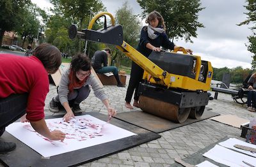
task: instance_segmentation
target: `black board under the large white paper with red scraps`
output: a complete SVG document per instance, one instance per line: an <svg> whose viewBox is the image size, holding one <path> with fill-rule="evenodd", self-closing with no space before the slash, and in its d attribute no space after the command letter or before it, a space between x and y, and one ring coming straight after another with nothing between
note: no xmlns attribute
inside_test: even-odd
<svg viewBox="0 0 256 167"><path fill-rule="evenodd" d="M101 113L91 112L86 114L104 121L107 119L107 116ZM51 116L48 117L48 119L56 117L63 117L63 115L55 117ZM4 166L77 166L161 137L159 134L152 133L151 131L147 131L146 129L142 129L141 127L134 126L115 118L111 119L111 124L138 135L67 152L58 156L44 158L35 152L35 150L30 149L30 147L17 140L17 138L14 138L11 134L5 132L3 136L1 136L1 140L6 142L15 142L17 148L8 154L0 154L0 162Z"/></svg>

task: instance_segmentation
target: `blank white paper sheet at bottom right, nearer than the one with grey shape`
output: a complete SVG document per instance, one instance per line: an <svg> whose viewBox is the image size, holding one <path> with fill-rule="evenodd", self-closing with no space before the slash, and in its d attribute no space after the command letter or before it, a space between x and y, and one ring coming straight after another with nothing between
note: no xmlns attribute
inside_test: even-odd
<svg viewBox="0 0 256 167"><path fill-rule="evenodd" d="M248 167L243 163L243 161L256 166L255 157L235 152L234 150L227 149L220 145L215 145L211 150L205 152L203 156L208 157L209 159L212 159L218 163L232 167Z"/></svg>

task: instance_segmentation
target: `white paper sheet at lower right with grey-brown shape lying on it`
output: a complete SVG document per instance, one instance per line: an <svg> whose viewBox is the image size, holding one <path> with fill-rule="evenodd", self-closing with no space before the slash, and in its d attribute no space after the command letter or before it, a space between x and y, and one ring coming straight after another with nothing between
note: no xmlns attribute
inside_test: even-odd
<svg viewBox="0 0 256 167"><path fill-rule="evenodd" d="M221 145L223 147L226 147L228 149L237 150L237 151L242 152L244 154L247 154L249 156L256 157L256 153L252 153L252 152L247 151L247 150L237 149L236 147L234 147L234 145L243 145L243 146L252 147L252 148L256 149L256 145L253 145L251 143L243 142L241 140L238 140L237 138L229 138L228 140L226 140L224 142L220 142L219 145ZM256 159L255 159L255 161L256 161Z"/></svg>

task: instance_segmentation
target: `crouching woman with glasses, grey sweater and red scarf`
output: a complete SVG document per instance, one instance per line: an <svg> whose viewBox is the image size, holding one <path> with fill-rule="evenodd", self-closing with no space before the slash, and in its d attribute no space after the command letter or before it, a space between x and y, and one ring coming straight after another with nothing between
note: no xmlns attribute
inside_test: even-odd
<svg viewBox="0 0 256 167"><path fill-rule="evenodd" d="M70 69L61 76L58 95L52 98L49 104L51 112L59 112L58 107L62 105L67 112L64 115L64 120L72 119L73 112L81 110L79 104L90 94L89 85L91 85L95 96L108 109L109 117L116 115L116 110L109 105L108 97L99 82L91 74L91 68L91 61L86 55L78 54L72 59Z"/></svg>

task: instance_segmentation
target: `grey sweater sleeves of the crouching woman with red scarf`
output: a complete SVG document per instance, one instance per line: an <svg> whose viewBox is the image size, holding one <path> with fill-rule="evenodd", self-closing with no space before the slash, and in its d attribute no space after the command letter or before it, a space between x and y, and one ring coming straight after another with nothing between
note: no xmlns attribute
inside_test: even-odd
<svg viewBox="0 0 256 167"><path fill-rule="evenodd" d="M59 98L60 103L63 105L64 102L68 102L68 83L69 83L69 75L70 70L68 69L63 73L61 76L60 84L59 84ZM103 89L100 87L99 82L96 80L95 76L91 74L89 78L86 80L83 86L86 85L92 85L93 92L97 98L99 98L101 101L104 101L104 99L108 99L107 95L103 91ZM80 87L76 87L74 89L79 89Z"/></svg>

